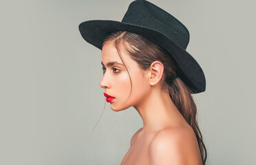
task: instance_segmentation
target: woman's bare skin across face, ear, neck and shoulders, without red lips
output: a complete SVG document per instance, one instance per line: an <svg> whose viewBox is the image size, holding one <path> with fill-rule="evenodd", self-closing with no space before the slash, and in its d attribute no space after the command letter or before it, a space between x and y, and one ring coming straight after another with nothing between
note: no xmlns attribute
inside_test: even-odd
<svg viewBox="0 0 256 165"><path fill-rule="evenodd" d="M123 65L107 67L111 61L123 64L112 41L105 43L102 50L105 74L100 87L115 97L110 102L113 111L133 106L143 120L143 127L131 138L131 147L121 165L202 164L193 129L175 107L168 91L160 90L162 63L154 61L144 71L129 54L121 52L121 55L131 75L132 90Z"/></svg>

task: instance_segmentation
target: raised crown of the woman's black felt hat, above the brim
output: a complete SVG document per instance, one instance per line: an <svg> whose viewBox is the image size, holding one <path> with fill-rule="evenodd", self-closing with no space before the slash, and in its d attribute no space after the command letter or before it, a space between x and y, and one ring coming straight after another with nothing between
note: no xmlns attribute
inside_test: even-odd
<svg viewBox="0 0 256 165"><path fill-rule="evenodd" d="M149 1L133 1L122 22L157 30L184 50L189 44L189 30L178 19Z"/></svg>

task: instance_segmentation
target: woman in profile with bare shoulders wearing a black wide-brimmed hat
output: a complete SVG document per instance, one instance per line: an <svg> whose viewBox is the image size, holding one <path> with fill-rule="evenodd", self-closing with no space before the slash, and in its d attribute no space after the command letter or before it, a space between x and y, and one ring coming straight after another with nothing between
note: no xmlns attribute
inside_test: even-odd
<svg viewBox="0 0 256 165"><path fill-rule="evenodd" d="M204 72L186 52L189 31L148 1L133 1L118 21L85 21L83 39L102 50L100 87L114 111L134 107L143 127L121 164L205 164L206 148L191 94Z"/></svg>

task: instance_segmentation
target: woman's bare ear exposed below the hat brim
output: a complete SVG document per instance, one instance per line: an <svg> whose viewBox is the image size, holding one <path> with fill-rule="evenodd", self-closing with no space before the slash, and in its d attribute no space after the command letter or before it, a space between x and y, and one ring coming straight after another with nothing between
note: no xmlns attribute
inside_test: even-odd
<svg viewBox="0 0 256 165"><path fill-rule="evenodd" d="M164 65L162 65L160 61L154 61L153 63L151 63L148 69L149 84L151 86L157 85L162 78L163 72L164 72Z"/></svg>

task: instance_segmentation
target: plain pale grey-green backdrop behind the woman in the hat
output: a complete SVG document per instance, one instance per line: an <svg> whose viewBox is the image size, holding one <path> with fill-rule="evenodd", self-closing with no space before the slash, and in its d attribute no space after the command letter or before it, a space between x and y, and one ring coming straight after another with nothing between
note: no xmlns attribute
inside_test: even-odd
<svg viewBox="0 0 256 165"><path fill-rule="evenodd" d="M194 98L208 164L255 164L255 3L151 2L186 25L204 69L206 91ZM78 24L121 21L129 3L1 1L0 164L120 164L142 120L109 103L100 118L101 52Z"/></svg>

